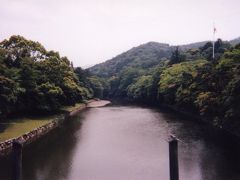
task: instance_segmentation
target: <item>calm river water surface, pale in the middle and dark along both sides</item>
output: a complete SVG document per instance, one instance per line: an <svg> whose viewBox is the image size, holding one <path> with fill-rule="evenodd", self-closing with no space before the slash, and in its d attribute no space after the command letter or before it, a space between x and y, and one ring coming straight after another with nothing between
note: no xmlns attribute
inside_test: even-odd
<svg viewBox="0 0 240 180"><path fill-rule="evenodd" d="M168 142L179 144L180 180L239 180L229 137L169 112L136 106L91 108L24 148L23 180L169 180ZM0 159L11 179L11 158Z"/></svg>

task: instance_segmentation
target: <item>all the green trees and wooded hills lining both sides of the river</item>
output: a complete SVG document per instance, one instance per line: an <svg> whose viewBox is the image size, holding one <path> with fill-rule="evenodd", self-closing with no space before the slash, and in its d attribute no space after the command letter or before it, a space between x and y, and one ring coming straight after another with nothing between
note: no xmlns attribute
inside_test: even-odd
<svg viewBox="0 0 240 180"><path fill-rule="evenodd" d="M0 43L0 115L49 112L93 97L167 105L240 135L240 39L150 42L87 70L40 43Z"/></svg>

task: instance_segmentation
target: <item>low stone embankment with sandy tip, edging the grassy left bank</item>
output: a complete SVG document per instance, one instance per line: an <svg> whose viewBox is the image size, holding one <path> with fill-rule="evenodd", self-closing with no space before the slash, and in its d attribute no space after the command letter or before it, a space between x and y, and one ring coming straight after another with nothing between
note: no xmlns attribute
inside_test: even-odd
<svg viewBox="0 0 240 180"><path fill-rule="evenodd" d="M69 119L72 116L75 116L77 113L85 109L86 107L92 107L91 104L97 103L99 106L104 106L106 104L109 104L106 101L101 102L101 100L91 100L88 101L86 104L82 104L79 107L75 108L74 110L70 112L66 112L63 115L60 115L58 118L53 119L50 123L41 126L39 128L33 129L30 132L27 132L17 138L9 139L4 142L0 142L0 156L7 155L8 153L11 152L12 150L12 143L13 141L19 141L23 145L29 144L35 140L37 140L39 137L47 134L49 131L55 129L58 127L60 124L62 124L65 120Z"/></svg>

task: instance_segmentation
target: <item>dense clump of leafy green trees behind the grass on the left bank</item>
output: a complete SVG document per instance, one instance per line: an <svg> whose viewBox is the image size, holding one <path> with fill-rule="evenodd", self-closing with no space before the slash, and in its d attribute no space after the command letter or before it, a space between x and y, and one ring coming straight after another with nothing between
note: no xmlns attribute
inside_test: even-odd
<svg viewBox="0 0 240 180"><path fill-rule="evenodd" d="M0 43L0 117L57 110L93 93L58 52L21 36Z"/></svg>

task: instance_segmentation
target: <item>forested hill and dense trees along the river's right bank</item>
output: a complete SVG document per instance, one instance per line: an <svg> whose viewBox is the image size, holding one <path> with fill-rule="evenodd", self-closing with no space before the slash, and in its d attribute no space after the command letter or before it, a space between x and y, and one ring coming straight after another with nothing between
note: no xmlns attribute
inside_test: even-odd
<svg viewBox="0 0 240 180"><path fill-rule="evenodd" d="M197 45L168 47L168 53L158 51L158 56L147 51L143 58L141 50L151 49L146 44L90 71L105 77L110 98L169 106L200 115L218 127L239 130L240 45L218 39L214 59L211 42ZM130 60L132 56L135 60ZM151 65L145 66L145 60Z"/></svg>

